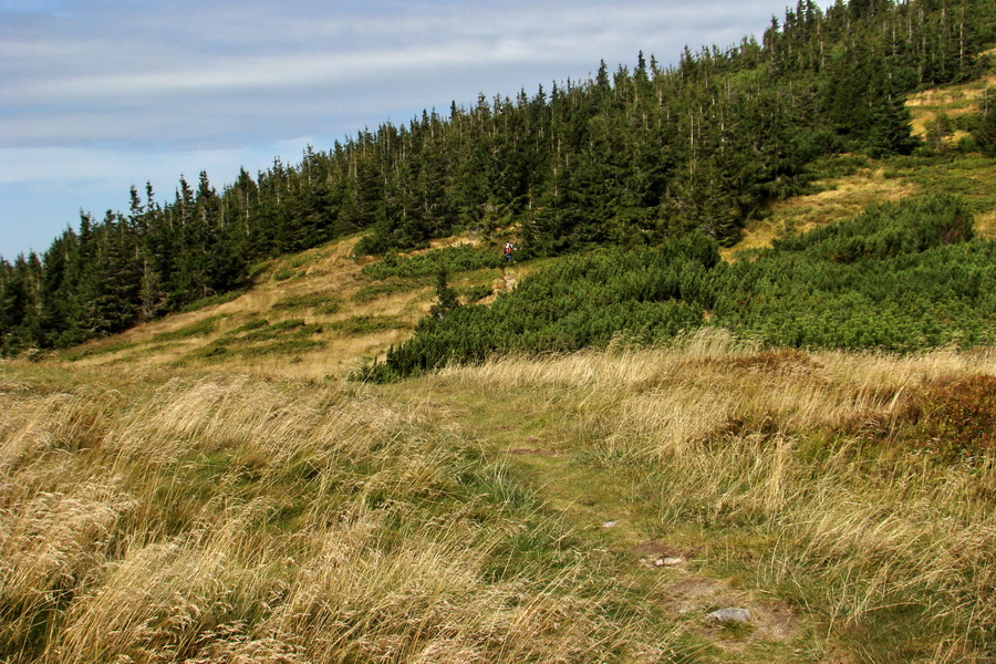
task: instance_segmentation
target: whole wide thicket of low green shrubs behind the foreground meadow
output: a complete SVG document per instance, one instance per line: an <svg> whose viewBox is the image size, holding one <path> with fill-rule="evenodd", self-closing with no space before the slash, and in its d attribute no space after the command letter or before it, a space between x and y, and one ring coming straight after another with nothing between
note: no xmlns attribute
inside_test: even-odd
<svg viewBox="0 0 996 664"><path fill-rule="evenodd" d="M798 349L996 343L996 242L973 240L972 225L961 200L927 196L878 206L733 264L719 262L716 243L701 235L655 249L568 256L489 307L423 319L411 340L356 377L603 347L621 334L656 343L704 324Z"/></svg>

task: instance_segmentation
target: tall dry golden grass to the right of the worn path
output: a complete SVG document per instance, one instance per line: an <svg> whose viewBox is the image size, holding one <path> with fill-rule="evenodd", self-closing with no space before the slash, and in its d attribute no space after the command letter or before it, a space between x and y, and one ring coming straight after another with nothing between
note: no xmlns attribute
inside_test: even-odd
<svg viewBox="0 0 996 664"><path fill-rule="evenodd" d="M996 355L760 352L699 334L436 380L532 391L593 478L632 483L649 536L791 602L855 661L941 663L996 647L996 456L935 454L916 406L973 375L996 376Z"/></svg>

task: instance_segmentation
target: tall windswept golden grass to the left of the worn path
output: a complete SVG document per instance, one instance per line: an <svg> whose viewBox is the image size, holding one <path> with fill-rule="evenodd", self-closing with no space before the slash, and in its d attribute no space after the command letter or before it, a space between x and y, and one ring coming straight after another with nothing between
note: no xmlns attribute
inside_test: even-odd
<svg viewBox="0 0 996 664"><path fill-rule="evenodd" d="M0 371L4 662L592 662L666 644L600 553L425 408L247 376Z"/></svg>

